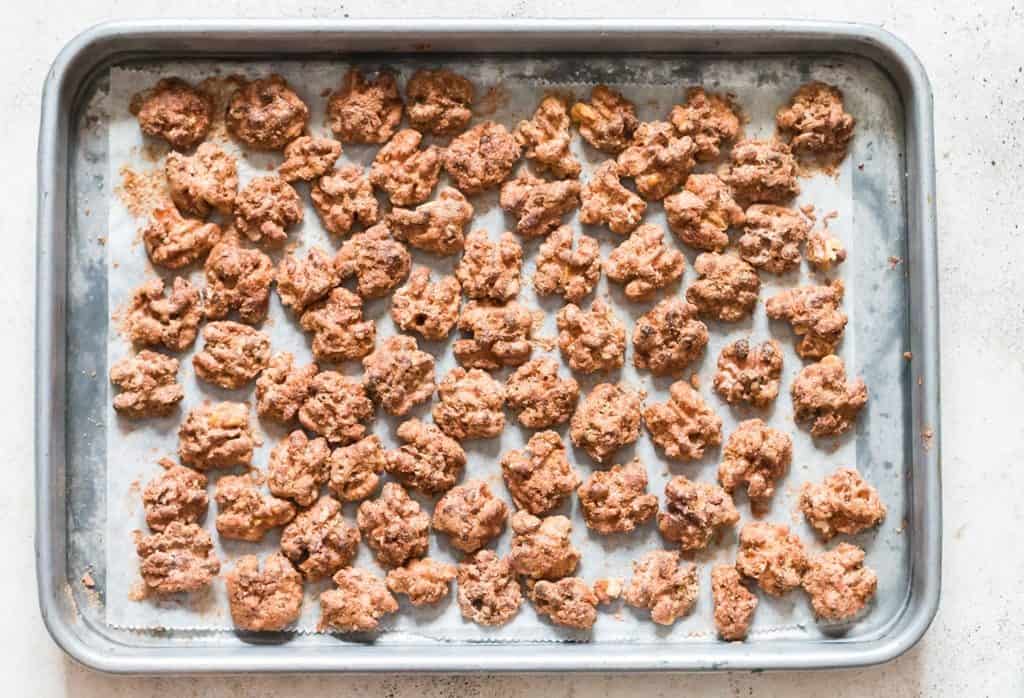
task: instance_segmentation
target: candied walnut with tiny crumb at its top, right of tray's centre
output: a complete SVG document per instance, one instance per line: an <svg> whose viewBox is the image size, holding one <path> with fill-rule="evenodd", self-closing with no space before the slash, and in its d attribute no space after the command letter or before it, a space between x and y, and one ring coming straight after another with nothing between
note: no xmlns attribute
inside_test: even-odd
<svg viewBox="0 0 1024 698"><path fill-rule="evenodd" d="M722 419L688 381L669 388L669 401L648 405L644 425L651 440L670 459L699 461L705 449L722 443Z"/></svg>

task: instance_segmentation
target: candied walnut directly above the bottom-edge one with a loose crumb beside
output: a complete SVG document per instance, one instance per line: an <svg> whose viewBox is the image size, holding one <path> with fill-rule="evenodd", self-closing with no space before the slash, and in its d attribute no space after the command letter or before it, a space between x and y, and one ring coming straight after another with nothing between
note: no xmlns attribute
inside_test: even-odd
<svg viewBox="0 0 1024 698"><path fill-rule="evenodd" d="M575 571L580 551L572 547L572 524L564 516L538 518L529 512L512 515L509 564L530 579L560 579Z"/></svg>

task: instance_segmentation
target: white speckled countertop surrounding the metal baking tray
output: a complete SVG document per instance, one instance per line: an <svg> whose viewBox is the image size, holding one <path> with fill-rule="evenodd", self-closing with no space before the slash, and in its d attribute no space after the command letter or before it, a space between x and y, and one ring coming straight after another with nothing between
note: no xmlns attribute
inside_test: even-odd
<svg viewBox="0 0 1024 698"><path fill-rule="evenodd" d="M174 16L793 16L878 24L918 52L935 91L944 425L943 595L925 639L884 666L773 674L603 674L475 678L141 679L93 673L50 641L36 606L33 559L35 162L39 97L50 60L75 34L109 18ZM10 3L0 23L0 124L6 167L0 276L6 342L0 408L8 485L0 574L0 677L5 694L75 696L1011 696L1024 695L1024 553L1011 539L1024 517L1024 243L1010 205L1024 185L1024 6L1010 0L93 0ZM28 166L19 167L26 163ZM1011 536L1007 535L1011 532ZM1014 552L1016 549L1017 552Z"/></svg>

